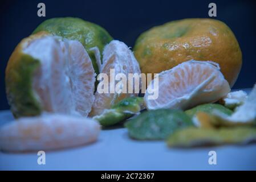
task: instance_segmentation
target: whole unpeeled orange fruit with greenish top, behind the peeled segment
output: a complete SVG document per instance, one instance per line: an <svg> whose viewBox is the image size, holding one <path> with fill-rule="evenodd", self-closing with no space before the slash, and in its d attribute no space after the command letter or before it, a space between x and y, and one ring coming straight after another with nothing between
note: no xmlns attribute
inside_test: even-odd
<svg viewBox="0 0 256 182"><path fill-rule="evenodd" d="M233 32L214 19L182 19L153 27L139 36L133 50L142 73L160 73L192 59L214 61L230 87L242 66Z"/></svg>

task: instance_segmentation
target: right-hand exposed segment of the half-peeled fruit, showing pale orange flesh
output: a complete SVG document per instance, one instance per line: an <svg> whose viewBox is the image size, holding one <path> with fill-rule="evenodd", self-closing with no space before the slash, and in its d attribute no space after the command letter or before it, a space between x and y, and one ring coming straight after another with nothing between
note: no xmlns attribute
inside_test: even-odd
<svg viewBox="0 0 256 182"><path fill-rule="evenodd" d="M87 116L94 102L96 74L91 59L82 44L76 40L68 40L68 43L67 51L70 53L70 59L66 65L68 68L66 79L70 81L69 86L75 111Z"/></svg>

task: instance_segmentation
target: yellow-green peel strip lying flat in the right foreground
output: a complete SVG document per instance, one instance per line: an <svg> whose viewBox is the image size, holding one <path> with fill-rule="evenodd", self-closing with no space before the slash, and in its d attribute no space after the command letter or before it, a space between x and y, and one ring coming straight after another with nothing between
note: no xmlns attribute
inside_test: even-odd
<svg viewBox="0 0 256 182"><path fill-rule="evenodd" d="M198 129L190 127L176 131L167 139L169 147L200 147L221 144L256 142L256 130L251 127Z"/></svg>

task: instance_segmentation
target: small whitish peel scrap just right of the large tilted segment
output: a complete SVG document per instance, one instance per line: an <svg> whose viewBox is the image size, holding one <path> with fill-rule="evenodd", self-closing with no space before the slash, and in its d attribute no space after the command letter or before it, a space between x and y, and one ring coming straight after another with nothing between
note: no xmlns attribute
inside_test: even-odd
<svg viewBox="0 0 256 182"><path fill-rule="evenodd" d="M243 104L243 102L247 99L247 93L243 90L230 92L224 98L222 98L221 102L230 109L234 109L237 106Z"/></svg>

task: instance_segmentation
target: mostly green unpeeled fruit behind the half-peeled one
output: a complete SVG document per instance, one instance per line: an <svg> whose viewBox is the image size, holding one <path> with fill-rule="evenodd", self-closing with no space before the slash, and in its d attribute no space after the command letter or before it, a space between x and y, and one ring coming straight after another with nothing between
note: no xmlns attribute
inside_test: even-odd
<svg viewBox="0 0 256 182"><path fill-rule="evenodd" d="M53 35L62 36L70 40L78 40L82 43L92 60L92 65L97 74L99 73L99 69L97 68L94 52L90 51L90 48L98 47L100 52L102 52L105 44L108 44L113 39L99 25L72 17L45 20L32 34L40 31L47 31Z"/></svg>

